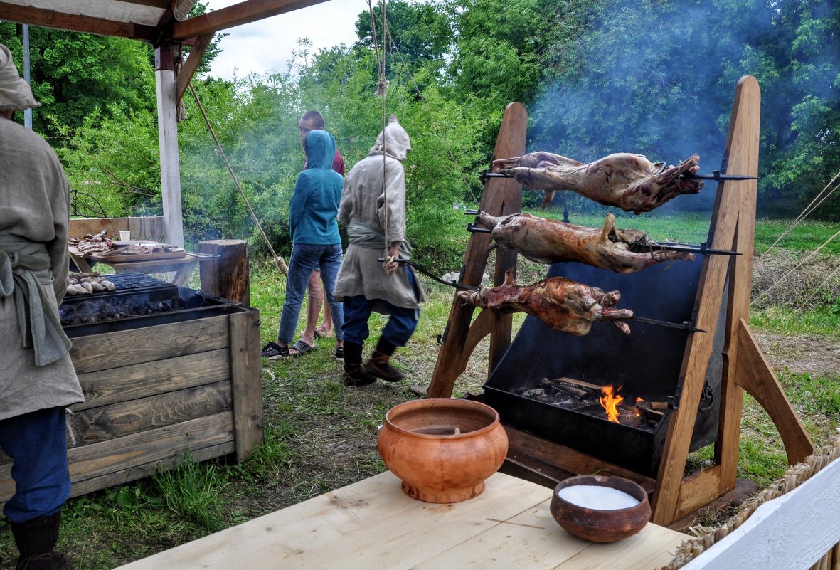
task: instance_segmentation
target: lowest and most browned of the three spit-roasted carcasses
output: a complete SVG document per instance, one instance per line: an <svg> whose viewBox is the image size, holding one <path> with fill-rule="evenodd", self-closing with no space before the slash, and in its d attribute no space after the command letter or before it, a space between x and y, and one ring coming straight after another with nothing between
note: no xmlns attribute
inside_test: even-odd
<svg viewBox="0 0 840 570"><path fill-rule="evenodd" d="M548 277L533 285L517 285L513 271L505 274L505 282L498 287L478 291L459 291L466 303L483 309L499 309L503 313L523 311L537 317L554 330L583 336L596 320L608 320L622 332L630 327L621 319L633 317L629 309L613 309L621 293L590 287L566 277Z"/></svg>

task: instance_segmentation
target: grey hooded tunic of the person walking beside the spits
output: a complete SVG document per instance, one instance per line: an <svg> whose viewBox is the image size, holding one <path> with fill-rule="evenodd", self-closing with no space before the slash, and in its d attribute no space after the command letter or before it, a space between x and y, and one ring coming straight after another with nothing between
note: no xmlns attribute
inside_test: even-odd
<svg viewBox="0 0 840 570"><path fill-rule="evenodd" d="M402 241L402 257L407 257L410 251L406 239L406 177L402 161L411 148L406 131L391 115L370 154L353 166L344 181L339 221L347 224L350 243L335 282L334 293L338 299L363 296L382 299L403 309L417 309L426 300L412 267L401 263L396 273L389 276L381 261L377 261L387 255L386 220L387 240ZM407 272L412 272L415 288L408 282ZM379 307L375 309L381 311Z"/></svg>

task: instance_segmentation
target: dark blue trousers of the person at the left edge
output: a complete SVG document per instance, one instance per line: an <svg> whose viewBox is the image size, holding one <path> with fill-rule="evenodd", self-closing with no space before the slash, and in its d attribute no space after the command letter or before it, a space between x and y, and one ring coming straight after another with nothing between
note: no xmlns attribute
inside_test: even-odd
<svg viewBox="0 0 840 570"><path fill-rule="evenodd" d="M14 494L3 507L13 523L55 515L70 496L64 408L0 420L0 447L13 459Z"/></svg>

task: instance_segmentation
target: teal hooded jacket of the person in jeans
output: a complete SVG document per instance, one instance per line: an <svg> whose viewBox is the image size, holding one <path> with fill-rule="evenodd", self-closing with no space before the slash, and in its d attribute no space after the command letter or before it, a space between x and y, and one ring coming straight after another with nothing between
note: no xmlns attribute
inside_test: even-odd
<svg viewBox="0 0 840 570"><path fill-rule="evenodd" d="M289 203L289 229L295 244L341 242L339 212L344 178L333 170L335 139L325 130L307 135L307 169L297 175Z"/></svg>

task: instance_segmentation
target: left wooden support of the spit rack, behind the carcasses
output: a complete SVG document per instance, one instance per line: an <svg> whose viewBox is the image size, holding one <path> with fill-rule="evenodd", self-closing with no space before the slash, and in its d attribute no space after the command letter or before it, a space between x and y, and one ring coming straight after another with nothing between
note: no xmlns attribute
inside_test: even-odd
<svg viewBox="0 0 840 570"><path fill-rule="evenodd" d="M528 129L528 111L522 103L509 103L501 119L501 128L496 139L493 158L521 156L525 153L525 135ZM512 178L490 178L481 195L480 210L487 214L501 216L515 214L522 206L522 185ZM487 266L487 247L490 234L470 235L470 242L464 256L464 274L461 282L478 286ZM496 254L495 284L501 285L508 268L516 268L516 251L502 251ZM481 311L475 323L470 326L475 307L465 305L456 295L449 310L449 323L444 333L443 346L438 352L438 362L428 387L430 398L449 398L455 380L464 372L475 345L486 335L491 335L491 358L489 372L511 344L512 315L498 311Z"/></svg>

